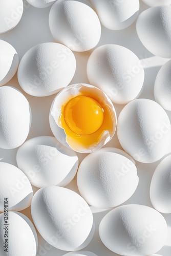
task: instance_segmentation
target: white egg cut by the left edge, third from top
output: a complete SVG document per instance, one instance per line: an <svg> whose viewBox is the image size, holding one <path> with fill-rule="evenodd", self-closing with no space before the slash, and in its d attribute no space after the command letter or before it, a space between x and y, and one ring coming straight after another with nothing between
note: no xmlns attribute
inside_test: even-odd
<svg viewBox="0 0 171 256"><path fill-rule="evenodd" d="M0 147L16 148L27 139L31 126L31 109L26 97L17 89L0 88Z"/></svg>

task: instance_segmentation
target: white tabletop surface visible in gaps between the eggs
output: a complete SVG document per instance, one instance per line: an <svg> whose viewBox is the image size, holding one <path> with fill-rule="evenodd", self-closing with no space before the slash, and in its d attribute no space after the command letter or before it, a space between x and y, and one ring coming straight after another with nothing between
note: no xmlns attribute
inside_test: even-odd
<svg viewBox="0 0 171 256"><path fill-rule="evenodd" d="M0 38L8 41L18 52L19 58L26 53L31 47L34 45L40 44L41 42L49 42L54 41L51 35L49 25L48 25L48 15L50 11L50 7L44 9L38 9L29 6L26 1L25 3L25 11L20 23L11 31L6 34L1 34ZM142 2L140 3L140 11L148 8ZM143 92L140 95L140 98L149 98L154 100L153 95L153 88L154 82L157 75L157 72L161 68L161 66L168 60L164 58L159 58L153 56L149 53L145 47L141 44L137 34L135 23L131 25L131 27L121 30L121 31L111 31L102 27L102 36L98 46L103 44L119 44L124 46L131 51L133 51L140 59L144 65L145 70L145 81L144 81L144 88ZM72 79L70 84L73 83L89 83L87 74L86 74L86 66L87 60L91 54L89 52L78 53L75 52L74 55L77 60L77 68L74 78ZM15 75L14 78L8 82L11 86L18 88L19 84L17 81L17 76ZM28 138L41 136L41 135L49 135L52 136L52 132L49 126L49 110L52 104L52 101L55 95L48 96L48 97L33 97L24 93L27 99L30 102L32 108L32 125L31 130L29 133ZM117 116L120 113L123 105L116 105L115 108L117 111ZM167 114L171 118L171 113L167 111ZM113 137L113 139L108 142L105 146L114 146L121 148L117 135ZM13 163L16 165L16 149L15 150L2 150L0 149L0 159L1 161ZM171 153L171 145L167 151L167 154ZM79 160L83 159L84 156L87 154L78 154ZM153 164L143 164L137 163L137 171L139 176L139 184L137 190L135 191L134 195L125 202L125 204L144 204L147 206L151 206L152 204L149 199L149 186L151 183L152 175L158 162ZM76 179L74 179L68 186L78 192L76 186ZM34 187L34 191L37 190ZM109 210L100 210L91 207L95 219L95 235L91 243L84 249L89 250L96 253L98 256L117 256L117 254L113 253L109 249L107 249L99 239L98 234L98 226L99 222L103 218L103 216ZM23 210L23 214L26 214L30 219L30 208ZM162 256L170 256L171 254L171 214L163 214L164 218L167 221L168 225L168 238L165 242L164 247L158 252ZM65 252L60 251L51 245L49 245L44 239L38 236L38 251L37 256L61 256L65 254ZM66 252L67 253L67 252Z"/></svg>

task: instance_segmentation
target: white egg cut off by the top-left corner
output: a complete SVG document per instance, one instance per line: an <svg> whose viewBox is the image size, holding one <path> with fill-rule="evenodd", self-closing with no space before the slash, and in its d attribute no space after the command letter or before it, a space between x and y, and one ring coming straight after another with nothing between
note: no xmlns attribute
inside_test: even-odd
<svg viewBox="0 0 171 256"><path fill-rule="evenodd" d="M0 1L0 34L13 29L22 18L23 0Z"/></svg>

